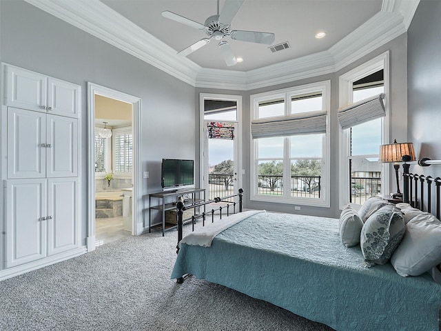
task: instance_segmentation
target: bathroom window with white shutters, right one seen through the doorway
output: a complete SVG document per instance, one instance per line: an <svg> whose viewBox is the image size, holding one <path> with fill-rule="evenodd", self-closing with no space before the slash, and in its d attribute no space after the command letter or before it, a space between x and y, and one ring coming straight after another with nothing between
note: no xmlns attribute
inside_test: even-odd
<svg viewBox="0 0 441 331"><path fill-rule="evenodd" d="M116 176L131 177L133 169L132 128L116 128L112 133L113 172Z"/></svg>

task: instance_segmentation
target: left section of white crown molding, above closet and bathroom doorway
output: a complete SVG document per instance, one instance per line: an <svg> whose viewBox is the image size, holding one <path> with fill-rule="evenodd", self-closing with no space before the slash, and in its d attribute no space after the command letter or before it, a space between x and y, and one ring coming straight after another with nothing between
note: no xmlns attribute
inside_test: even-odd
<svg viewBox="0 0 441 331"><path fill-rule="evenodd" d="M194 86L201 70L193 61L136 26L99 0L25 0L106 43Z"/></svg>

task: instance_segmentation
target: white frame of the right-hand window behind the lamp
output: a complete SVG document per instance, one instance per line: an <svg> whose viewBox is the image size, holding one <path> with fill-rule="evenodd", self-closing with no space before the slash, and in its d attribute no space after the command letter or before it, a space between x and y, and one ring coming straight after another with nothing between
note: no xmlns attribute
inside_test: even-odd
<svg viewBox="0 0 441 331"><path fill-rule="evenodd" d="M378 70L383 70L383 81L384 81L384 94L386 94L384 107L386 108L386 116L382 119L382 141L381 143L389 143L389 132L390 132L390 82L389 82L389 51L380 54L361 66L353 68L349 72L340 75L338 86L339 86L339 108L345 107L353 103L353 82L362 79L363 77L373 74ZM349 162L347 159L349 157L349 129L342 130L340 123L338 124L339 129L339 146L340 146L340 157L339 157L339 208L344 208L345 205L349 204ZM380 148L380 146L378 146ZM382 163L381 165L381 190L382 192L389 192L389 172L387 171L387 164ZM351 205L356 205L351 203Z"/></svg>

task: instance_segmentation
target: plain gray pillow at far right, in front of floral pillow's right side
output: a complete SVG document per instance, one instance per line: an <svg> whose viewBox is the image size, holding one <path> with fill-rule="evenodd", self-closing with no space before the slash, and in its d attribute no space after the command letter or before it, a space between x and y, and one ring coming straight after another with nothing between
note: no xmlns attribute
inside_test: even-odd
<svg viewBox="0 0 441 331"><path fill-rule="evenodd" d="M441 222L422 212L406 225L406 234L391 257L403 277L420 276L441 263Z"/></svg>

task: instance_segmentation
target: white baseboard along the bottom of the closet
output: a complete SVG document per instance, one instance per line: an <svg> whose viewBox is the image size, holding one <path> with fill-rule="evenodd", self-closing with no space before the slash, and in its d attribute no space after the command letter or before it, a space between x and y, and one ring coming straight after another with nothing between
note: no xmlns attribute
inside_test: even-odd
<svg viewBox="0 0 441 331"><path fill-rule="evenodd" d="M85 248L85 246L82 246L74 250L70 250L68 252L63 252L54 255L53 257L46 257L45 259L40 259L38 261L25 263L23 265L17 265L17 267L1 270L0 281L18 276L19 274L25 274L26 272L30 272L32 270L40 269L54 263L72 259L73 257L79 257L80 255L85 254L86 252L88 252L88 250Z"/></svg>

